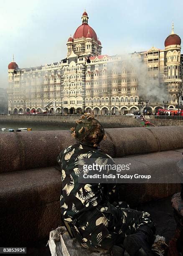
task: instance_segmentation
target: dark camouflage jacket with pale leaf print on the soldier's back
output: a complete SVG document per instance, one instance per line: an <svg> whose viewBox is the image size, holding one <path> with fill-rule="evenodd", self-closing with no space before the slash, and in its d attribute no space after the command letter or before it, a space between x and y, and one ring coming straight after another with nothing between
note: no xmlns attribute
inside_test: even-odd
<svg viewBox="0 0 183 256"><path fill-rule="evenodd" d="M114 201L116 184L80 183L79 162L97 159L98 164L115 164L111 156L99 151L97 147L76 143L62 150L58 156L61 167L62 191L60 197L61 214L65 221L72 222L85 211L105 207L106 202ZM109 170L110 171L110 170Z"/></svg>

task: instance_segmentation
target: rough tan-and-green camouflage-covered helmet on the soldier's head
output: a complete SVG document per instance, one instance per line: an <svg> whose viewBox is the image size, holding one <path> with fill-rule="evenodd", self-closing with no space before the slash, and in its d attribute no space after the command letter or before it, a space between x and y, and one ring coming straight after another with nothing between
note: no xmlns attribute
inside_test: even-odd
<svg viewBox="0 0 183 256"><path fill-rule="evenodd" d="M71 133L77 141L88 146L98 146L106 138L104 128L92 115L82 115L76 120L76 126L71 128Z"/></svg>

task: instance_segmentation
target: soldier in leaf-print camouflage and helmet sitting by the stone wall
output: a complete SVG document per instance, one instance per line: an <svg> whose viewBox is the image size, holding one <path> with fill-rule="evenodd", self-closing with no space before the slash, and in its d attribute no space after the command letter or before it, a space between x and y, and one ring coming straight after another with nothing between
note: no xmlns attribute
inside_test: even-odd
<svg viewBox="0 0 183 256"><path fill-rule="evenodd" d="M61 166L61 214L76 239L85 248L104 248L112 255L152 256L155 226L148 212L114 203L116 184L79 182L79 161L104 160L114 164L104 154L99 143L105 133L92 116L82 116L71 133L77 143L65 148L58 156Z"/></svg>

